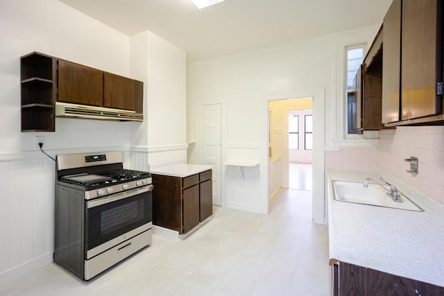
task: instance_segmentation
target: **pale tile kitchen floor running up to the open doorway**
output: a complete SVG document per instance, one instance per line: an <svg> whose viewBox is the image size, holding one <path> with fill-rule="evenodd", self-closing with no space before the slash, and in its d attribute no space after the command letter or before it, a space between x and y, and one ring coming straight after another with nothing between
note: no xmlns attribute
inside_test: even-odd
<svg viewBox="0 0 444 296"><path fill-rule="evenodd" d="M58 265L0 286L0 295L329 295L327 227L311 221L311 191L280 189L261 215L214 208L183 241L153 245L83 282Z"/></svg>

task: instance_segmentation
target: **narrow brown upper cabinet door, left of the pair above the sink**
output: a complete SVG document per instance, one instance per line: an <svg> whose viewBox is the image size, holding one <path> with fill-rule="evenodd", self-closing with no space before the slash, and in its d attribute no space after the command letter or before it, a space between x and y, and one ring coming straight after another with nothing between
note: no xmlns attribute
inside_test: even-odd
<svg viewBox="0 0 444 296"><path fill-rule="evenodd" d="M401 0L393 0L382 35L382 123L400 120Z"/></svg>

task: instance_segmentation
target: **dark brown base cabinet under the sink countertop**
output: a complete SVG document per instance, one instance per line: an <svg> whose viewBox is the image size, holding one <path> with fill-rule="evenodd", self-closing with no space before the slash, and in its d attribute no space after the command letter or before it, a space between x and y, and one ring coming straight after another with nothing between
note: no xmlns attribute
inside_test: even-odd
<svg viewBox="0 0 444 296"><path fill-rule="evenodd" d="M444 288L386 272L330 260L334 296L442 296Z"/></svg>

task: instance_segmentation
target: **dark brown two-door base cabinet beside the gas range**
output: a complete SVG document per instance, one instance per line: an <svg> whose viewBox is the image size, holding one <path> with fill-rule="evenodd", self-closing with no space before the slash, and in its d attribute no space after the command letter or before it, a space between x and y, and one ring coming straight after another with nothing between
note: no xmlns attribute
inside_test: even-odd
<svg viewBox="0 0 444 296"><path fill-rule="evenodd" d="M188 177L153 174L153 225L186 234L212 216L212 171Z"/></svg>

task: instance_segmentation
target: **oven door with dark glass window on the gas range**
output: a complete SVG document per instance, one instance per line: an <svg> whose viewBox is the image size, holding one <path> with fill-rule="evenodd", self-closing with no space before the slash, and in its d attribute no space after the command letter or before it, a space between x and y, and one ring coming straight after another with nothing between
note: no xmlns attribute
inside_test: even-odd
<svg viewBox="0 0 444 296"><path fill-rule="evenodd" d="M86 259L151 228L153 185L89 200L86 203Z"/></svg>

